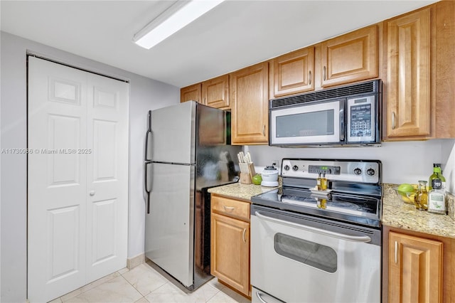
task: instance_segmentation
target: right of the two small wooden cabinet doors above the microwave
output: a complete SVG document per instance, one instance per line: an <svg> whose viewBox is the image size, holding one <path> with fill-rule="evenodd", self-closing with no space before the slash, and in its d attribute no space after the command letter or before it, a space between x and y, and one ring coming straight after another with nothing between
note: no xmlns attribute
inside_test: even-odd
<svg viewBox="0 0 455 303"><path fill-rule="evenodd" d="M378 26L321 43L321 86L378 77Z"/></svg>

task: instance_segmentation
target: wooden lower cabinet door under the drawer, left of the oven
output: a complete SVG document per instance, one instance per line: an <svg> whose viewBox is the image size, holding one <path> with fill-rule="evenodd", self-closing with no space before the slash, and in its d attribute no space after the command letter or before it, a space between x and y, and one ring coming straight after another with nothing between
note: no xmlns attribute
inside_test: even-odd
<svg viewBox="0 0 455 303"><path fill-rule="evenodd" d="M249 295L250 223L212 213L210 240L210 273Z"/></svg>

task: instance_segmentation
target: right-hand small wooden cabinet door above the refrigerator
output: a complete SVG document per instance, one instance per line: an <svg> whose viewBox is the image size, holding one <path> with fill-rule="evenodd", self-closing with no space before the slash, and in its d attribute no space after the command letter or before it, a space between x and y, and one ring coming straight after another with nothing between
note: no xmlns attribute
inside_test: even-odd
<svg viewBox="0 0 455 303"><path fill-rule="evenodd" d="M215 108L229 108L229 75L204 81L202 83L204 105Z"/></svg>

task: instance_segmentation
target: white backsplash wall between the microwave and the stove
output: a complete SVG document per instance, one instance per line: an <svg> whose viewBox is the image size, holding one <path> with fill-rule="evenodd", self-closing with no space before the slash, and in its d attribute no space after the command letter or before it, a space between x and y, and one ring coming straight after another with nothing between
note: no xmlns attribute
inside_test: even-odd
<svg viewBox="0 0 455 303"><path fill-rule="evenodd" d="M316 159L375 159L382 161L382 182L401 184L427 180L433 172L433 163L441 163L446 180L451 180L454 193L455 140L432 139L427 141L382 142L381 147L338 148L282 148L248 146L255 166L271 165L282 158ZM451 154L450 154L451 153ZM257 171L260 172L260 171Z"/></svg>

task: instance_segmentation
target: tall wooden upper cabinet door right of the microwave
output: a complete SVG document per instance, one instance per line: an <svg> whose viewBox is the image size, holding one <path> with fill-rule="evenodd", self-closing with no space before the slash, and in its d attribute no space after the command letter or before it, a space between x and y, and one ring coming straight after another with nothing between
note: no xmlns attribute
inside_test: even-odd
<svg viewBox="0 0 455 303"><path fill-rule="evenodd" d="M430 9L387 22L387 137L430 134Z"/></svg>

